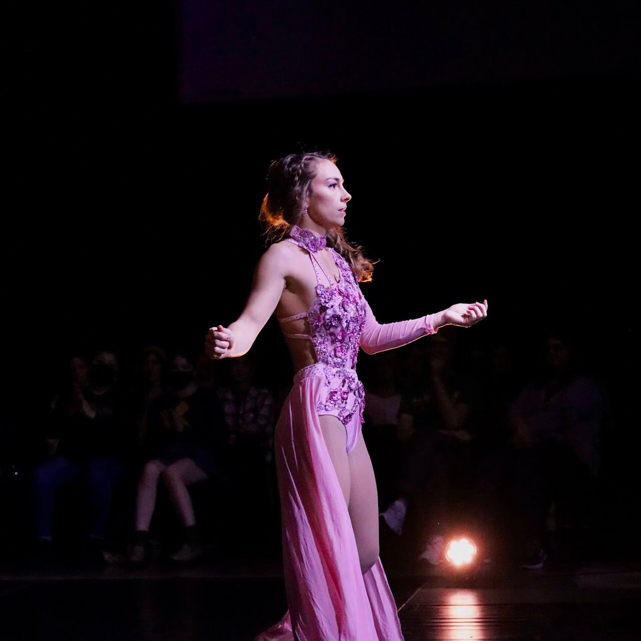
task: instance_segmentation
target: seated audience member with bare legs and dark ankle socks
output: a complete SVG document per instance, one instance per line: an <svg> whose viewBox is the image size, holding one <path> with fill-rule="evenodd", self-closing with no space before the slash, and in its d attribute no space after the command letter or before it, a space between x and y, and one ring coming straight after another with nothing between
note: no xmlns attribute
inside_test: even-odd
<svg viewBox="0 0 641 641"><path fill-rule="evenodd" d="M150 558L149 526L159 481L167 488L182 526L182 545L169 558L192 562L203 553L187 488L208 478L222 478L224 416L215 392L198 387L194 375L194 359L184 352L174 354L167 372L167 391L149 407L130 563L144 563Z"/></svg>

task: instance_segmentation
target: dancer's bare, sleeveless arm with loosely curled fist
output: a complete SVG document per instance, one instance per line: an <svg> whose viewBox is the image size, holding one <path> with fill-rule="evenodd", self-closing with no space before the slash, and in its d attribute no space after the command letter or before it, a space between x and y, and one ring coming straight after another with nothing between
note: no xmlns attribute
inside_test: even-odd
<svg viewBox="0 0 641 641"><path fill-rule="evenodd" d="M282 247L272 245L261 256L245 308L228 328L210 328L205 339L205 353L215 360L242 356L274 313L285 288L288 260Z"/></svg>

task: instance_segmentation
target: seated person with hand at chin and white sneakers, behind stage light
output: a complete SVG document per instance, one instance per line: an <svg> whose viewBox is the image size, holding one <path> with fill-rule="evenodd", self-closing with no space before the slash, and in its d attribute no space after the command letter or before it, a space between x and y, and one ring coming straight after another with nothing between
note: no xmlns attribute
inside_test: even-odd
<svg viewBox="0 0 641 641"><path fill-rule="evenodd" d="M449 499L469 476L470 416L478 403L471 379L454 368L454 340L449 328L441 328L410 345L398 422L403 462L396 498L381 513L401 535L413 508L422 540L419 558L433 565L442 560L447 519L455 518Z"/></svg>

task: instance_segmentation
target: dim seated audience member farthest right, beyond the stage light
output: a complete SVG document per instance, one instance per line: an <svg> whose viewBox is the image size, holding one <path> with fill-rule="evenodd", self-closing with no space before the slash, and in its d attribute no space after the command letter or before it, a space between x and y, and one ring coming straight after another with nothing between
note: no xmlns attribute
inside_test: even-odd
<svg viewBox="0 0 641 641"><path fill-rule="evenodd" d="M541 567L551 542L546 520L554 503L557 528L572 531L570 553L587 553L599 478L604 397L579 367L569 333L545 340L544 368L520 390L508 413L515 449L513 483L523 567Z"/></svg>

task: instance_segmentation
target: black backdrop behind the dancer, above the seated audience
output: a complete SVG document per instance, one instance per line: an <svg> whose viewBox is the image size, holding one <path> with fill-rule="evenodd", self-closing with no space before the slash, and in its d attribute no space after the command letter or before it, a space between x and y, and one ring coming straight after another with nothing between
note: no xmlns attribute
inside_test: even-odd
<svg viewBox="0 0 641 641"><path fill-rule="evenodd" d="M5 13L9 411L24 421L76 344L201 349L264 249L269 161L329 149L348 238L380 259L378 320L487 297L470 337L523 363L570 324L612 390L620 490L637 487L637 3ZM254 352L284 381L276 330Z"/></svg>

